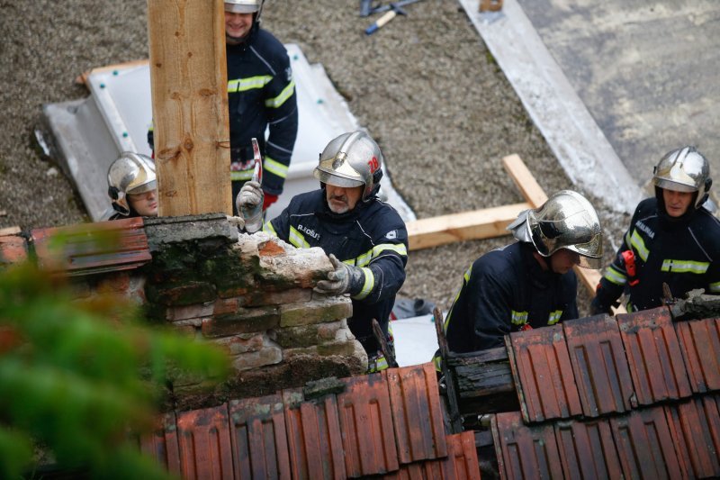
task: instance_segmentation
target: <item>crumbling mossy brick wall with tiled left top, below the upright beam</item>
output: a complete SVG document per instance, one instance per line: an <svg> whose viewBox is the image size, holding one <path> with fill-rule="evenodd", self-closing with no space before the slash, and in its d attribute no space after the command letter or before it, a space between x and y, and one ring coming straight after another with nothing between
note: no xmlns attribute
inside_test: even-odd
<svg viewBox="0 0 720 480"><path fill-rule="evenodd" d="M63 249L53 249L53 238ZM57 241L57 240L56 240ZM0 237L0 265L35 258L67 275L74 294L114 293L161 323L220 345L229 382L209 391L177 376L175 406L273 394L327 376L365 372L347 327L349 298L316 294L331 268L321 249L239 233L220 214L97 222Z"/></svg>

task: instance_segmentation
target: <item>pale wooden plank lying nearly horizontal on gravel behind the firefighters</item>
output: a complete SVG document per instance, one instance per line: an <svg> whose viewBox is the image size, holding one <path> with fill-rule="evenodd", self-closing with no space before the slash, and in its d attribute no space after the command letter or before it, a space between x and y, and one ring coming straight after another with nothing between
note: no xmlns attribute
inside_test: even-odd
<svg viewBox="0 0 720 480"><path fill-rule="evenodd" d="M510 204L407 222L410 250L508 235L506 227L528 208L533 207L527 203Z"/></svg>

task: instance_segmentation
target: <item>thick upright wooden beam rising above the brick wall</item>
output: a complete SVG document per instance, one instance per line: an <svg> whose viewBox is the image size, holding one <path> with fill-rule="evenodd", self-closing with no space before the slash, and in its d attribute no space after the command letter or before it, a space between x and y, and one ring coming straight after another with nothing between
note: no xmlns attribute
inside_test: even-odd
<svg viewBox="0 0 720 480"><path fill-rule="evenodd" d="M159 214L231 213L222 0L148 0Z"/></svg>

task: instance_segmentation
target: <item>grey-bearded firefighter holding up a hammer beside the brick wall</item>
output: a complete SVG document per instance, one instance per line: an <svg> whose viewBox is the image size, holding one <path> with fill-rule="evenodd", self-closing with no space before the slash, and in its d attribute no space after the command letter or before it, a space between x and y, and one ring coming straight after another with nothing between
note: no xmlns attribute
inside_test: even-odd
<svg viewBox="0 0 720 480"><path fill-rule="evenodd" d="M405 281L408 231L401 216L377 196L383 153L364 131L330 140L314 170L320 189L295 195L277 218L262 225L263 191L247 182L237 199L246 231L263 228L298 248L320 247L334 270L318 282L320 294L350 294L350 331L368 355L368 372L388 367L373 335L377 320L392 349L389 317Z"/></svg>

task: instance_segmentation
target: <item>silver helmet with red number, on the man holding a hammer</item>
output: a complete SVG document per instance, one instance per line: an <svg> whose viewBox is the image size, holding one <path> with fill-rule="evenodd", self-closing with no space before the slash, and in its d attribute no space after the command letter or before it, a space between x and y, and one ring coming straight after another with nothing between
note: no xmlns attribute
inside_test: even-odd
<svg viewBox="0 0 720 480"><path fill-rule="evenodd" d="M313 175L333 186L365 186L363 200L367 200L380 188L383 152L365 131L343 133L322 150Z"/></svg>

